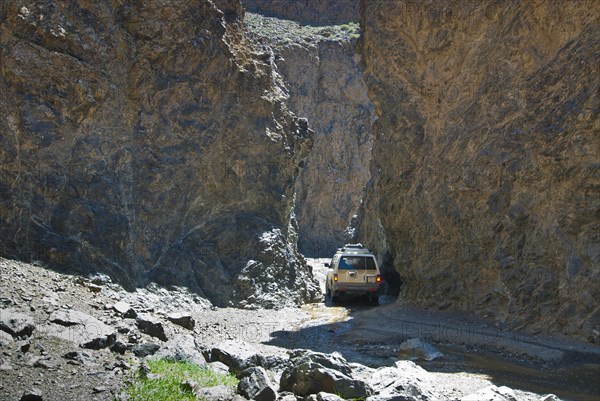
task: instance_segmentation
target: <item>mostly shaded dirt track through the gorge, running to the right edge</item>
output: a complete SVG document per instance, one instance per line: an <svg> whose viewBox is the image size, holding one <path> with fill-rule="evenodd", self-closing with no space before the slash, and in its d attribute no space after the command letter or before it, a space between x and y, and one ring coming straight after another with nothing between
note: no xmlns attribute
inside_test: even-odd
<svg viewBox="0 0 600 401"><path fill-rule="evenodd" d="M325 260L313 259L322 281ZM444 357L418 363L443 381L496 385L553 393L567 399L600 400L600 347L560 336L505 331L483 318L456 312L427 311L402 303L367 306L361 299L305 308L311 319L298 336L320 351L341 351L349 360L385 364L400 344L419 338L438 347ZM343 349L343 350L342 350ZM436 373L437 372L437 373ZM475 379L477 378L477 379Z"/></svg>

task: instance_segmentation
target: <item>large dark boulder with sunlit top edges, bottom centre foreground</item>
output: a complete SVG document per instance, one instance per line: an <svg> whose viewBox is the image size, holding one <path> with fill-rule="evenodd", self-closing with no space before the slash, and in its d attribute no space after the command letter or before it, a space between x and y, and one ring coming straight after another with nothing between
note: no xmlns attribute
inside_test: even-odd
<svg viewBox="0 0 600 401"><path fill-rule="evenodd" d="M368 384L352 378L352 370L341 356L303 350L292 353L290 358L290 366L281 376L281 391L300 396L327 392L343 398L367 397L372 393Z"/></svg>

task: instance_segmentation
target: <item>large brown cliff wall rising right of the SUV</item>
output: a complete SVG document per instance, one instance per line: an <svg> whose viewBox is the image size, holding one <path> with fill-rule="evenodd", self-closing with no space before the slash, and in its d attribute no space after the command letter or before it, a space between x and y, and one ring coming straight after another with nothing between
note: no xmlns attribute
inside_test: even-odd
<svg viewBox="0 0 600 401"><path fill-rule="evenodd" d="M361 7L360 232L402 299L599 341L600 3Z"/></svg>

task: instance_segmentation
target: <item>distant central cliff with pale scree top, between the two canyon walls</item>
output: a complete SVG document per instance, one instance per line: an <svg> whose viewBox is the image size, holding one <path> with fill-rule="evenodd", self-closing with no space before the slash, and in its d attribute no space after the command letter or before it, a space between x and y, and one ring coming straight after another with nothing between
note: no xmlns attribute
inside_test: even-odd
<svg viewBox="0 0 600 401"><path fill-rule="evenodd" d="M290 109L315 131L295 186L298 247L307 256L331 256L345 241L369 179L373 106L358 65L360 29L253 13L244 23L257 47L274 52Z"/></svg>

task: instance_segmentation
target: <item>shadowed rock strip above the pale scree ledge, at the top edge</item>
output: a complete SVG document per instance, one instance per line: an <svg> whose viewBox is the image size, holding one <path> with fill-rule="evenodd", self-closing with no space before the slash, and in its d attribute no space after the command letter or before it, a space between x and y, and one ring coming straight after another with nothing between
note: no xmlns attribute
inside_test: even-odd
<svg viewBox="0 0 600 401"><path fill-rule="evenodd" d="M311 25L357 21L360 0L241 0L244 8L267 17Z"/></svg>

